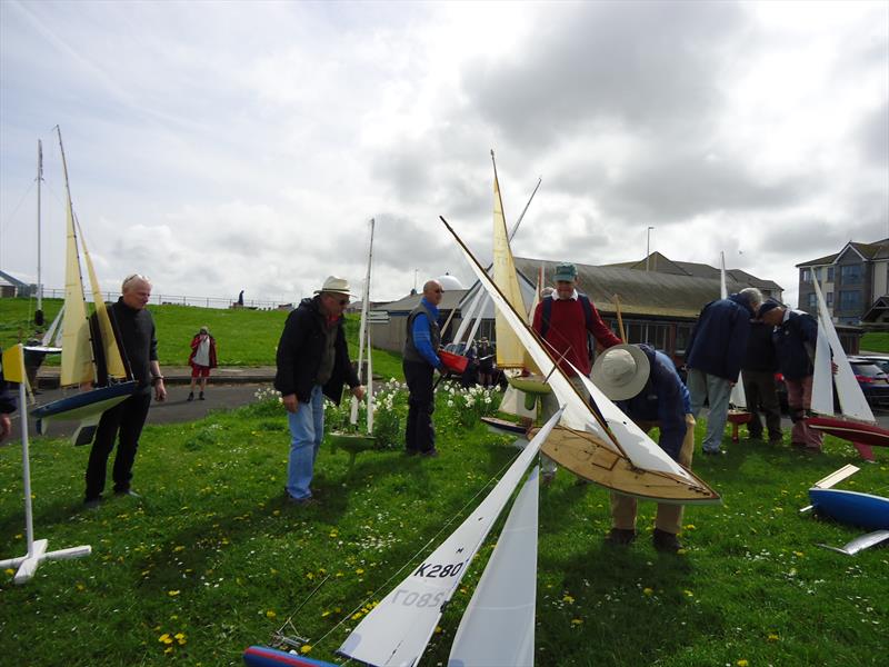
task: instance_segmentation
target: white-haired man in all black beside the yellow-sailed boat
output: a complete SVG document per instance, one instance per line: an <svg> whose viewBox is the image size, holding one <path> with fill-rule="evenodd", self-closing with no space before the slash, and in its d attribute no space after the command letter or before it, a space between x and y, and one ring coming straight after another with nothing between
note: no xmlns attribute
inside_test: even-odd
<svg viewBox="0 0 889 667"><path fill-rule="evenodd" d="M158 364L154 320L146 309L151 299L151 281L144 276L133 273L124 278L121 292L122 296L109 307L108 312L114 325L118 345L138 388L132 396L106 410L99 420L87 464L87 490L83 499L87 507L97 507L102 500L108 457L114 448L116 438L118 451L112 472L114 494L140 497L130 488L130 480L139 448L139 436L151 406L151 388L154 388L157 400L167 398L167 388Z"/></svg>

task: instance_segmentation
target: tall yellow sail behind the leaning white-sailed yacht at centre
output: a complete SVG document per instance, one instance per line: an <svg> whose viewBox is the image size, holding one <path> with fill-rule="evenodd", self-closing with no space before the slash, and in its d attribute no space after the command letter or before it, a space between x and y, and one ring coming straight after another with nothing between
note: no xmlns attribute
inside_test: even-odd
<svg viewBox="0 0 889 667"><path fill-rule="evenodd" d="M493 281L519 312L527 312L516 273L516 262L509 248L507 220L503 216L503 201L500 198L500 183L497 172L493 176ZM495 320L497 327L497 366L499 368L522 368L525 347L507 323L500 311Z"/></svg>

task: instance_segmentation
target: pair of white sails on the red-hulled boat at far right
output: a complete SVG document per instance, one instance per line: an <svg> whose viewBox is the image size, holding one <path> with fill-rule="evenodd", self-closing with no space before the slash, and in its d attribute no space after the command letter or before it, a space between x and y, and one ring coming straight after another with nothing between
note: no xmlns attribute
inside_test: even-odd
<svg viewBox="0 0 889 667"><path fill-rule="evenodd" d="M837 336L833 320L830 319L830 311L827 309L818 280L812 280L812 286L818 299L818 344L815 355L811 408L822 415L833 414L832 386L836 382L843 416L873 424L876 422L873 411L870 409L858 380L855 379L855 372L846 357L846 350L842 349L839 336ZM836 375L832 374L831 352L832 362L837 365Z"/></svg>

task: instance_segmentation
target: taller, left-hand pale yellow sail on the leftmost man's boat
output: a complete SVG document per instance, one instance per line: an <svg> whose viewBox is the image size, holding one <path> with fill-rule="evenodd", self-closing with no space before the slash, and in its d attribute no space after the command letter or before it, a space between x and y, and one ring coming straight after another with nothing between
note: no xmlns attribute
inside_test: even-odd
<svg viewBox="0 0 889 667"><path fill-rule="evenodd" d="M80 278L74 216L71 198L67 198L67 247L64 265L64 319L62 320L62 362L59 382L72 387L93 381L90 328L87 320L87 300Z"/></svg>

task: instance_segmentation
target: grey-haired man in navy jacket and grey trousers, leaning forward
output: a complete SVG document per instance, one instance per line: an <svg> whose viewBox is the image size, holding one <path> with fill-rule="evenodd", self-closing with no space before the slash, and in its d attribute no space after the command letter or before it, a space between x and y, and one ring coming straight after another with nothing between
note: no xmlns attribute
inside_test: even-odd
<svg viewBox="0 0 889 667"><path fill-rule="evenodd" d="M720 455L722 434L729 412L729 396L747 351L750 320L756 317L762 292L755 287L742 289L727 299L710 301L698 316L686 347L688 390L691 412L697 419L705 401L710 401L703 454Z"/></svg>

